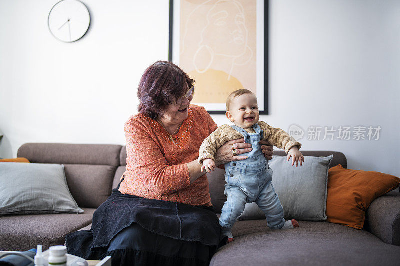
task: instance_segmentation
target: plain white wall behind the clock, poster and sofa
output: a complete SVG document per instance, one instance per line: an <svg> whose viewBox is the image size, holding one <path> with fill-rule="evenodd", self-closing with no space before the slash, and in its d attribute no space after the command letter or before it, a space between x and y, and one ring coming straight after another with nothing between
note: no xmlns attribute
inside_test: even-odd
<svg viewBox="0 0 400 266"><path fill-rule="evenodd" d="M0 0L0 157L25 142L124 144L143 70L168 57L167 0L84 0L91 26L74 43L48 31L57 1ZM302 149L400 176L399 13L398 0L272 0L270 115L261 119L286 131L380 126L379 140L305 135Z"/></svg>

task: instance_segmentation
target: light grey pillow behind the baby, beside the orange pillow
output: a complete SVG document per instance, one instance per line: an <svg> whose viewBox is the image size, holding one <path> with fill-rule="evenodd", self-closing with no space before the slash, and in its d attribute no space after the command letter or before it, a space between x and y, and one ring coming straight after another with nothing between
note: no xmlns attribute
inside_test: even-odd
<svg viewBox="0 0 400 266"><path fill-rule="evenodd" d="M273 156L272 185L283 206L285 219L326 220L329 164L333 155L304 156L303 165L291 165L291 158ZM265 219L255 202L247 203L238 220Z"/></svg>

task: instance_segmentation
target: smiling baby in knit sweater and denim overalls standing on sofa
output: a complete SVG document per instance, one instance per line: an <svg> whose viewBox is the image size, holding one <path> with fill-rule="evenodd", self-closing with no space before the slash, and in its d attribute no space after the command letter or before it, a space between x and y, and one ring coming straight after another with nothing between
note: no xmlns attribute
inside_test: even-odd
<svg viewBox="0 0 400 266"><path fill-rule="evenodd" d="M295 141L288 133L274 128L259 120L257 97L249 90L233 91L226 100L226 117L234 123L232 126L219 126L201 144L198 162L211 172L215 169L214 155L216 149L226 141L244 136L245 143L250 143L252 150L242 155L244 160L231 161L225 164L225 195L227 201L223 205L219 224L222 234L233 241L231 228L237 217L243 212L244 205L255 201L265 213L268 227L271 229L294 228L299 224L296 220L285 221L283 207L272 186L272 169L261 151L259 141L268 140L270 144L283 148L287 153L287 161L292 157L292 165L302 165L304 156L298 150L301 143ZM257 123L258 122L258 123ZM233 155L236 150L232 145Z"/></svg>

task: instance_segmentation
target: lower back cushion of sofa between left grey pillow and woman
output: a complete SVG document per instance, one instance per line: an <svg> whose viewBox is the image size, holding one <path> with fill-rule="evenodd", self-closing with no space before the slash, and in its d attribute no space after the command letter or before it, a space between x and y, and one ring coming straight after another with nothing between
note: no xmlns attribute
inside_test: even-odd
<svg viewBox="0 0 400 266"><path fill-rule="evenodd" d="M110 195L116 166L65 164L72 196L80 207L97 208Z"/></svg>

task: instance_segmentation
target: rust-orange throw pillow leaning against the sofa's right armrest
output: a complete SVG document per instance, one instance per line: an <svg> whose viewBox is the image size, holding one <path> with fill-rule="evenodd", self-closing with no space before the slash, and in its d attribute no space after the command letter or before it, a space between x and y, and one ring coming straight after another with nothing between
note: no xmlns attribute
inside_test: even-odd
<svg viewBox="0 0 400 266"><path fill-rule="evenodd" d="M399 185L400 178L389 174L346 169L340 164L331 167L328 174L326 221L361 229L371 202Z"/></svg>

